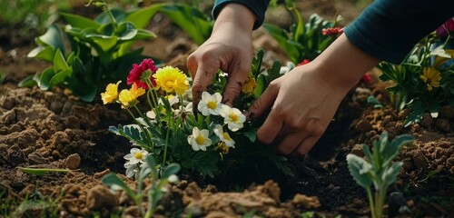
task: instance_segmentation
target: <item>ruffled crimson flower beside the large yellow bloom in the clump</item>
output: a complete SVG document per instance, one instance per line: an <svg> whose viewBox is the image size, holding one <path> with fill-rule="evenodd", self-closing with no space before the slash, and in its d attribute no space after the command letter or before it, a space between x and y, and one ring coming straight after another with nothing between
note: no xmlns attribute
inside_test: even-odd
<svg viewBox="0 0 454 218"><path fill-rule="evenodd" d="M150 74L150 81L152 81L153 86L156 86L156 82L154 81L153 74L156 73L158 68L154 65L153 59L143 59L141 64L133 64L133 69L128 75L128 79L126 84L137 84L137 87L142 87L145 90L148 89L148 85L146 82L141 79L143 72L149 70L152 72Z"/></svg>

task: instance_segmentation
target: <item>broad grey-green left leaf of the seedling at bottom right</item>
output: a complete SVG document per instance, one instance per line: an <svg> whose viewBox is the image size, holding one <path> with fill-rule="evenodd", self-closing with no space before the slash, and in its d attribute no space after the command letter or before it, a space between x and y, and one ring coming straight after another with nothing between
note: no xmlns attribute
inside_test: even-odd
<svg viewBox="0 0 454 218"><path fill-rule="evenodd" d="M372 183L370 174L367 173L368 169L372 167L370 163L355 154L347 154L347 163L349 164L350 174L353 176L355 182L369 190L370 184Z"/></svg>

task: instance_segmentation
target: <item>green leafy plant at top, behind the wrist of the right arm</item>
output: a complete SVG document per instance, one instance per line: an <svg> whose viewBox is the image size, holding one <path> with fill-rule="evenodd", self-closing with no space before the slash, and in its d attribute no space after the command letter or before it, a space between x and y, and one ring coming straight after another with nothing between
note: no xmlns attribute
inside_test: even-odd
<svg viewBox="0 0 454 218"><path fill-rule="evenodd" d="M290 30L271 24L263 24L263 27L281 45L291 62L301 63L305 59L315 59L343 33L343 28L337 26L341 16L335 21L327 21L314 14L309 17L308 23L304 24L301 12L294 2L285 2L294 19Z"/></svg>

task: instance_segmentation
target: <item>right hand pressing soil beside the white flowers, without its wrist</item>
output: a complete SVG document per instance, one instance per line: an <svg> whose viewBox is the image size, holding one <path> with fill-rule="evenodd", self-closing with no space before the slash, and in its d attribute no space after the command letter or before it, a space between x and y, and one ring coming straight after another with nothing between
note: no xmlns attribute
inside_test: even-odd
<svg viewBox="0 0 454 218"><path fill-rule="evenodd" d="M282 154L307 154L321 138L346 92L322 79L313 64L293 69L271 82L247 114L270 111L257 132Z"/></svg>

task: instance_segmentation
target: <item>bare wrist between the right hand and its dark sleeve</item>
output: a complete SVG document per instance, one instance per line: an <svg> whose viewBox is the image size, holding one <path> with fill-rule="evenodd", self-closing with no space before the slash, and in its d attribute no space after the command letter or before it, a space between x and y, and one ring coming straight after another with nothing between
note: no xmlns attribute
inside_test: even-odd
<svg viewBox="0 0 454 218"><path fill-rule="evenodd" d="M338 94L347 94L361 76L380 63L380 59L366 54L341 35L312 64L319 67L321 78Z"/></svg>

